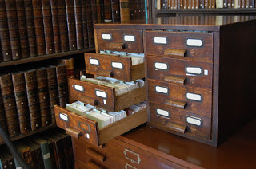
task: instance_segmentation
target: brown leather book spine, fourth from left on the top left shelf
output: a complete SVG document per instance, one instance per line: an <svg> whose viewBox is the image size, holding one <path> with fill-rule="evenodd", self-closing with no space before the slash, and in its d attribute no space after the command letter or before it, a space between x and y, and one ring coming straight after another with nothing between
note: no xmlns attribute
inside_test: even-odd
<svg viewBox="0 0 256 169"><path fill-rule="evenodd" d="M42 18L42 2L33 0L34 28L37 42L38 55L46 54L46 41L44 36L43 18Z"/></svg>

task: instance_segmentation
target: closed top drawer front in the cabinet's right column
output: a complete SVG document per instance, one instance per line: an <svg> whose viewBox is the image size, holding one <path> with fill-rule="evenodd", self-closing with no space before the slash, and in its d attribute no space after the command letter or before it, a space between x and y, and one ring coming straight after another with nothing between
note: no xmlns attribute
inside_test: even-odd
<svg viewBox="0 0 256 169"><path fill-rule="evenodd" d="M146 53L213 61L213 33L146 31Z"/></svg>

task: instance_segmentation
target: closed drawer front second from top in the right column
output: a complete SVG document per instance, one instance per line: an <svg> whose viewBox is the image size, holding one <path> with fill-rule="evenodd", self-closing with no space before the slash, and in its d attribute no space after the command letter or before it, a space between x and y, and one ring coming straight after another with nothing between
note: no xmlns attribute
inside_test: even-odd
<svg viewBox="0 0 256 169"><path fill-rule="evenodd" d="M213 65L206 62L147 56L149 79L212 89Z"/></svg>

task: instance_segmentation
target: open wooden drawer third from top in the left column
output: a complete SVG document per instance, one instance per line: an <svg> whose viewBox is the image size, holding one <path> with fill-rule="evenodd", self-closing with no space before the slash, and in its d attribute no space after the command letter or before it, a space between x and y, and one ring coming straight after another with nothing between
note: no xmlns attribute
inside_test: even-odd
<svg viewBox="0 0 256 169"><path fill-rule="evenodd" d="M146 100L146 86L116 96L115 88L96 85L77 79L68 79L70 98L83 103L118 112Z"/></svg>

